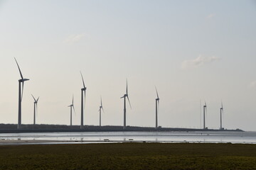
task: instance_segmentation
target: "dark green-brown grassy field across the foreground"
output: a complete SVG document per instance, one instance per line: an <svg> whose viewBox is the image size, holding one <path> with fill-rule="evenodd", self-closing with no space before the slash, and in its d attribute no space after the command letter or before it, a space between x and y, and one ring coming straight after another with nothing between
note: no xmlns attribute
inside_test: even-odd
<svg viewBox="0 0 256 170"><path fill-rule="evenodd" d="M0 147L0 169L256 169L256 145L119 143Z"/></svg>

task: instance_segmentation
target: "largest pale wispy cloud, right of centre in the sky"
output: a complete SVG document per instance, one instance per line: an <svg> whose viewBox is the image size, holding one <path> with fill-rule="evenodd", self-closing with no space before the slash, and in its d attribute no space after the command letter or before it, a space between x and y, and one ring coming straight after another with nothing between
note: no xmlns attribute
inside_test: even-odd
<svg viewBox="0 0 256 170"><path fill-rule="evenodd" d="M182 69L192 69L196 67L201 67L204 64L208 64L210 62L215 62L220 60L220 57L203 57L202 55L198 56L196 59L193 60L184 60L181 64Z"/></svg>

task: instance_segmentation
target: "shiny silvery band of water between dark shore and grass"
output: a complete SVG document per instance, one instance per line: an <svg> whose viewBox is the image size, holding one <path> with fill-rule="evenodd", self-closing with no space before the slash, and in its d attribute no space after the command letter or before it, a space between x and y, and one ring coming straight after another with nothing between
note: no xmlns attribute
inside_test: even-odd
<svg viewBox="0 0 256 170"><path fill-rule="evenodd" d="M256 144L256 132L48 132L0 134L0 140L61 142L232 142Z"/></svg>

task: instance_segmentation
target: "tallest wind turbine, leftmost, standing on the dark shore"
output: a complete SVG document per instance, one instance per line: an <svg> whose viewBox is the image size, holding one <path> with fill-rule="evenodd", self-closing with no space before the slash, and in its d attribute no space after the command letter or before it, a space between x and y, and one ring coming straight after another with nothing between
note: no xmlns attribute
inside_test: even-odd
<svg viewBox="0 0 256 170"><path fill-rule="evenodd" d="M16 58L14 57L14 60L16 61L16 64L18 66L18 62ZM21 69L18 66L18 71L21 74ZM21 101L23 97L23 89L24 89L24 82L28 81L29 79L24 79L23 75L21 74L21 79L18 80L18 129L21 128Z"/></svg>

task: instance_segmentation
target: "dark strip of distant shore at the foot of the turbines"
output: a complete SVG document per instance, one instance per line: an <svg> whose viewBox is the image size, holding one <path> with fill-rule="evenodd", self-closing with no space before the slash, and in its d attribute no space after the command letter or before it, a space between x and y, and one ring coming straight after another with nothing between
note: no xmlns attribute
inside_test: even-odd
<svg viewBox="0 0 256 170"><path fill-rule="evenodd" d="M227 129L196 129L196 128L151 128L151 127L137 127L127 126L125 129L122 126L94 126L85 125L80 129L79 125L21 125L17 129L16 124L0 124L0 133L29 133L29 132L200 132L200 131L233 131L243 132L243 130L227 130Z"/></svg>

